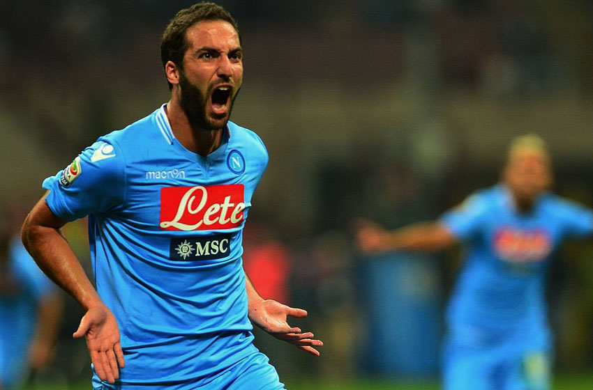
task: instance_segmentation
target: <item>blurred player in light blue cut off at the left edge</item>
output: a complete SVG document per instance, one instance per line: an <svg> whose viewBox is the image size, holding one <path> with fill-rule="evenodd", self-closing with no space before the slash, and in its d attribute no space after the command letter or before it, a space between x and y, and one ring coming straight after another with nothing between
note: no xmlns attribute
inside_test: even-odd
<svg viewBox="0 0 593 390"><path fill-rule="evenodd" d="M18 235L0 237L0 389L16 389L52 361L61 295Z"/></svg>

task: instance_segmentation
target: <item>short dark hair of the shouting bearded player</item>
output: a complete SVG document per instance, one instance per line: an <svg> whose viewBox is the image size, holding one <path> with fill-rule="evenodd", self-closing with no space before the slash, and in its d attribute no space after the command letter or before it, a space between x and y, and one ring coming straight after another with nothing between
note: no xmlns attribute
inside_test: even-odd
<svg viewBox="0 0 593 390"><path fill-rule="evenodd" d="M190 8L180 10L167 25L163 38L160 40L160 61L163 62L163 68L165 68L167 61L173 61L183 69L183 55L188 49L186 32L191 26L204 20L224 20L229 22L237 31L239 43L241 43L241 34L239 34L237 22L225 8L215 3L197 3ZM167 84L169 84L169 89L173 88L169 81L167 81Z"/></svg>

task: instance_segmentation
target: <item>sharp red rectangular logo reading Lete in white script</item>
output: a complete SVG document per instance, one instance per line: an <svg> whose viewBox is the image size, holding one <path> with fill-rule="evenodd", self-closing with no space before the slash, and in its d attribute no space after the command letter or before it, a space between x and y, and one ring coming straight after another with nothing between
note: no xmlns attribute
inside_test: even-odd
<svg viewBox="0 0 593 390"><path fill-rule="evenodd" d="M241 226L244 187L196 185L160 189L160 228L165 231L205 231Z"/></svg>

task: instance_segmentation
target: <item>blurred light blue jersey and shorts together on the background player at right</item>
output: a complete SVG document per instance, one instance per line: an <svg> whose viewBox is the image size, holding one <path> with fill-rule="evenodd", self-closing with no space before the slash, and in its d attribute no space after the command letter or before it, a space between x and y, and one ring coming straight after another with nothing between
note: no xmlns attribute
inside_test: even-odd
<svg viewBox="0 0 593 390"><path fill-rule="evenodd" d="M546 270L566 237L593 235L593 211L545 193L518 212L497 185L441 221L467 244L447 311L446 389L547 389L546 370L528 369L548 361Z"/></svg>

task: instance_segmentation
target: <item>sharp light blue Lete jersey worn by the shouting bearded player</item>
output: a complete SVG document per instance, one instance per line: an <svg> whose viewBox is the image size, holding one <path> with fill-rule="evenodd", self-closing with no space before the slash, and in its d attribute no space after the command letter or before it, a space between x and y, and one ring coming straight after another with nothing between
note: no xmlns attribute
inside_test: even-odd
<svg viewBox="0 0 593 390"><path fill-rule="evenodd" d="M260 138L231 122L213 153L190 152L163 105L43 183L58 217L90 216L96 288L121 332L123 384L200 384L255 351L241 239L267 162Z"/></svg>

